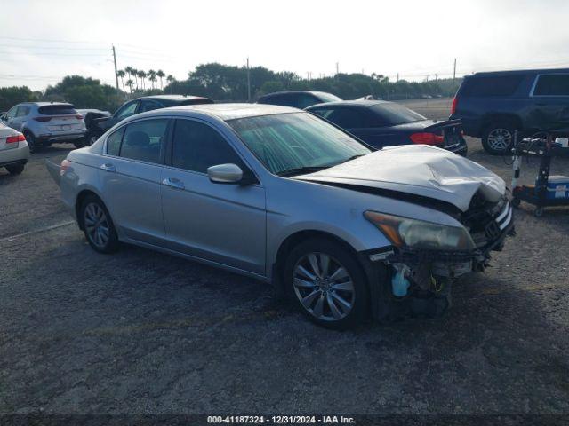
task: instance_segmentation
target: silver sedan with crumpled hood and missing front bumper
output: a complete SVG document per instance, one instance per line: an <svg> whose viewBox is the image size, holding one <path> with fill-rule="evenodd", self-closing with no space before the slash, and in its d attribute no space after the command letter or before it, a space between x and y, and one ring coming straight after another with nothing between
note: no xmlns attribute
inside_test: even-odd
<svg viewBox="0 0 569 426"><path fill-rule="evenodd" d="M124 241L272 282L326 327L444 311L513 231L504 182L477 163L374 151L285 106L137 114L48 169L94 250Z"/></svg>

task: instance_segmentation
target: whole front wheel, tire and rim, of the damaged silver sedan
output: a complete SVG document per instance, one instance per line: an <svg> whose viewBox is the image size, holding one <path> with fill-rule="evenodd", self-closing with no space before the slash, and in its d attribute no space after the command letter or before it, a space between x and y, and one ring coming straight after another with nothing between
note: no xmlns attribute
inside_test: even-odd
<svg viewBox="0 0 569 426"><path fill-rule="evenodd" d="M354 254L323 238L293 248L284 264L284 286L297 308L322 327L354 327L369 305L365 273Z"/></svg>

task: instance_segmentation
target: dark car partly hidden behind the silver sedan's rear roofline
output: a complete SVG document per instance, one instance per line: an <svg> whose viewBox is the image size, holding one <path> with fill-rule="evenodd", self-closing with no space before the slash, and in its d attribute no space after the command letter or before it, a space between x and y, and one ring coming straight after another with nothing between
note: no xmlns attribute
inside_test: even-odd
<svg viewBox="0 0 569 426"><path fill-rule="evenodd" d="M153 109L167 108L169 106L212 103L212 99L209 98L185 95L156 95L132 99L125 102L123 106L116 110L115 114L112 114L109 117L102 116L99 118L93 118L89 122L85 120L85 125L87 126L86 141L87 144L92 145L100 135L113 127L117 122L122 122L126 117L130 117L134 114L152 111Z"/></svg>

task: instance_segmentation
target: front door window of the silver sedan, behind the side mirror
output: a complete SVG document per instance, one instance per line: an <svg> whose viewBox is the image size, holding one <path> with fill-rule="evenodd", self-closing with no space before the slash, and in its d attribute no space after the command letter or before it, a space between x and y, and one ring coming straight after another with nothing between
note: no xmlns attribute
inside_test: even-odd
<svg viewBox="0 0 569 426"><path fill-rule="evenodd" d="M244 169L241 158L220 133L202 122L177 120L172 140L172 166L207 173L218 164L236 164Z"/></svg>

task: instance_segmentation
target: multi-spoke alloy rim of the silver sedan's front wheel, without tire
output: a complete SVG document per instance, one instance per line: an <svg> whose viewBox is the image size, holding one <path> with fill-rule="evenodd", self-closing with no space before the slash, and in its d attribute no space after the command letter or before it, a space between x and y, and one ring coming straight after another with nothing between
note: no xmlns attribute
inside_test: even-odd
<svg viewBox="0 0 569 426"><path fill-rule="evenodd" d="M348 270L325 253L301 257L293 269L294 293L317 319L338 321L354 306L356 291Z"/></svg>

